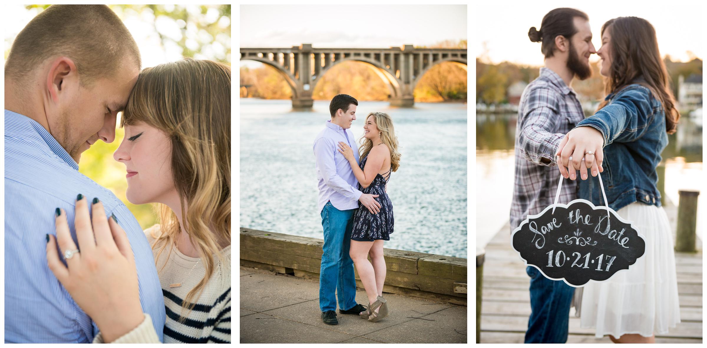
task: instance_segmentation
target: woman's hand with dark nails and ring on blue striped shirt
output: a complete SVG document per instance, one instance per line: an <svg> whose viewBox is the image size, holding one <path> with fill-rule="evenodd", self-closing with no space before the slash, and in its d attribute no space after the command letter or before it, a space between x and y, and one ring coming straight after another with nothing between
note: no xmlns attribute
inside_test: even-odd
<svg viewBox="0 0 707 348"><path fill-rule="evenodd" d="M66 212L57 208L57 237L47 234L47 264L74 301L98 325L105 342L130 332L144 320L135 260L125 231L115 216L105 217L103 203L76 201L76 240L71 238ZM59 250L57 250L57 244ZM71 254L73 250L80 250ZM59 258L65 255L66 266Z"/></svg>

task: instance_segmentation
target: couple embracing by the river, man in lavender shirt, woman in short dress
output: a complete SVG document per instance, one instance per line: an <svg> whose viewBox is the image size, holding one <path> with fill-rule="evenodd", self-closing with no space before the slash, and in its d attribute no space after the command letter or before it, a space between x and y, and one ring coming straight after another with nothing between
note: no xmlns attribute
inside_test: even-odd
<svg viewBox="0 0 707 348"><path fill-rule="evenodd" d="M341 314L378 322L389 313L382 297L383 240L390 240L394 221L386 184L399 168L400 153L392 119L384 112L366 116L359 152L350 129L357 106L358 100L351 95L334 96L329 103L331 120L325 122L313 146L319 187L317 208L324 229L319 302L322 321L327 325L339 323L337 297ZM356 303L354 264L366 289L368 306Z"/></svg>

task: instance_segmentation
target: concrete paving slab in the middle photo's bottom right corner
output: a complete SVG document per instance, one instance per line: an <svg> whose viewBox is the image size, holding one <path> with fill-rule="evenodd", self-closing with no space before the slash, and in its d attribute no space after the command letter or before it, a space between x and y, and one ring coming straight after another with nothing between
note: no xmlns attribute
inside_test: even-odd
<svg viewBox="0 0 707 348"><path fill-rule="evenodd" d="M414 332L414 334L411 334ZM452 306L363 338L385 343L467 343L467 308Z"/></svg>

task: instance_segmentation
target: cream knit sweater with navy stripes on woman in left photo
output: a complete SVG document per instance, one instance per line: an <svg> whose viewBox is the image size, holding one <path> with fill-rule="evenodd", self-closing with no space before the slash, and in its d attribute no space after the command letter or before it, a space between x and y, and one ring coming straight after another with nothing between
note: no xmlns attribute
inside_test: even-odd
<svg viewBox="0 0 707 348"><path fill-rule="evenodd" d="M159 225L155 225L145 230L150 245L155 240L153 236L159 236L159 228ZM158 250L159 245L153 249L154 257L157 256ZM187 315L184 323L178 321L182 313L182 300L204 277L206 269L204 262L199 261L197 257L184 255L176 247L172 248L171 253L169 251L168 245L157 262L167 313L163 332L164 343L230 343L230 245L223 248L225 262L216 258L214 274L206 283L204 291L196 301L197 305ZM175 283L182 283L182 286L169 287ZM111 343L159 343L150 315L144 314L145 320L140 325ZM99 333L93 343L103 343L103 336Z"/></svg>

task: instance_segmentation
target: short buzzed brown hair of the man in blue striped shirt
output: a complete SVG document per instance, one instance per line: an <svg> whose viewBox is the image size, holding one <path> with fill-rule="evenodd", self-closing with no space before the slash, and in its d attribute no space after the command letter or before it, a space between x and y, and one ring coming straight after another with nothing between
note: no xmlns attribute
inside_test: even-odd
<svg viewBox="0 0 707 348"><path fill-rule="evenodd" d="M140 68L140 52L125 25L105 5L52 5L17 35L5 63L5 78L25 77L45 60L66 56L81 74L81 86L111 77L129 57Z"/></svg>

